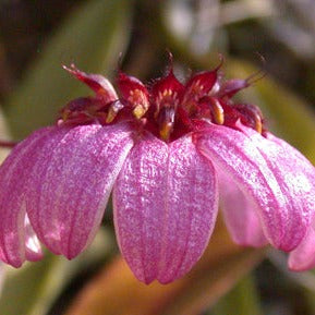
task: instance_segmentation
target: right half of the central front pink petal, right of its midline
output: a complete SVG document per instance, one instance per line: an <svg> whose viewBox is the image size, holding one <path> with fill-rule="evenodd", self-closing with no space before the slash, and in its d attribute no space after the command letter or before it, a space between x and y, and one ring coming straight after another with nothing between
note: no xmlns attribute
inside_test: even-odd
<svg viewBox="0 0 315 315"><path fill-rule="evenodd" d="M218 213L215 169L191 136L169 145L167 204L157 279L168 283L185 275L199 259Z"/></svg>

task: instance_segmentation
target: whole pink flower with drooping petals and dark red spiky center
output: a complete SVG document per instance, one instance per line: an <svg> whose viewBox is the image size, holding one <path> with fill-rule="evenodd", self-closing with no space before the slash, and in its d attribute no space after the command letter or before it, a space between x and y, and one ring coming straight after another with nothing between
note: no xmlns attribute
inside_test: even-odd
<svg viewBox="0 0 315 315"><path fill-rule="evenodd" d="M39 241L75 257L112 190L121 253L145 283L193 267L219 195L238 244L291 252L293 269L305 253L315 265L314 167L267 131L256 106L232 101L261 74L227 81L220 66L185 84L170 66L149 86L120 72L119 96L104 76L65 68L95 96L70 101L57 125L34 132L1 166L0 258L14 267L40 259Z"/></svg>

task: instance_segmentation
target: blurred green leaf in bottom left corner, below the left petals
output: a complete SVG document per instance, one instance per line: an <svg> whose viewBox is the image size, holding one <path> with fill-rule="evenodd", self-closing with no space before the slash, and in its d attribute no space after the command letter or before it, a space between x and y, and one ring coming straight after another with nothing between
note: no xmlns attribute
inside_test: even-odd
<svg viewBox="0 0 315 315"><path fill-rule="evenodd" d="M93 245L72 262L46 253L41 262L26 264L21 269L1 265L4 281L0 295L0 315L46 314L75 272L93 267L109 253L112 246L110 239L108 231L101 229Z"/></svg>

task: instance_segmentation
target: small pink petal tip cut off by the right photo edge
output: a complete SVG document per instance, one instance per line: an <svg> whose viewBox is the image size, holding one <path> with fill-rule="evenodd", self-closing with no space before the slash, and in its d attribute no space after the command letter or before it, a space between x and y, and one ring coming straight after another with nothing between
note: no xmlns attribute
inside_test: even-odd
<svg viewBox="0 0 315 315"><path fill-rule="evenodd" d="M307 230L306 237L289 255L289 268L293 271L304 271L315 266L315 231Z"/></svg>

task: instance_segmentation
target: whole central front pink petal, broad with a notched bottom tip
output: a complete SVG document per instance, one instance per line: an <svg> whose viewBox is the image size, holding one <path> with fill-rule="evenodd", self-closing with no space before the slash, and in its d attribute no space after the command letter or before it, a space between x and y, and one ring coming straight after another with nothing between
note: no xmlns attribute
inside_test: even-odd
<svg viewBox="0 0 315 315"><path fill-rule="evenodd" d="M113 190L121 252L145 283L173 281L202 255L217 215L213 166L191 137L169 146L146 136L132 149Z"/></svg>

